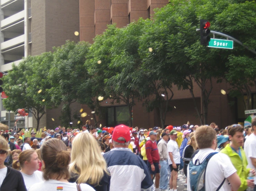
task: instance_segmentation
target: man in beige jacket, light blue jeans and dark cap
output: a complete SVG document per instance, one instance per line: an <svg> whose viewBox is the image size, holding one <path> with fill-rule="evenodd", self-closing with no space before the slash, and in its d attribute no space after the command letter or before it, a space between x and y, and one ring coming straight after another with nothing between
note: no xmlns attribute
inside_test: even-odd
<svg viewBox="0 0 256 191"><path fill-rule="evenodd" d="M169 129L168 129L169 131ZM169 134L162 133L161 134L162 139L157 144L158 153L160 157L160 185L159 189L162 191L168 191L168 153L167 153L167 142L169 139Z"/></svg>

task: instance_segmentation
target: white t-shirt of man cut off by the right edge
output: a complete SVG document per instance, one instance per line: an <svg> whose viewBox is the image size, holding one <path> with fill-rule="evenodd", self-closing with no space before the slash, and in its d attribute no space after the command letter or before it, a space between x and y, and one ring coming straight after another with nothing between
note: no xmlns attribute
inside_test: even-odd
<svg viewBox="0 0 256 191"><path fill-rule="evenodd" d="M247 168L256 170L250 159L250 157L256 158L256 135L254 133L251 133L245 140L244 151L248 161ZM256 184L256 177L254 177L254 184Z"/></svg>

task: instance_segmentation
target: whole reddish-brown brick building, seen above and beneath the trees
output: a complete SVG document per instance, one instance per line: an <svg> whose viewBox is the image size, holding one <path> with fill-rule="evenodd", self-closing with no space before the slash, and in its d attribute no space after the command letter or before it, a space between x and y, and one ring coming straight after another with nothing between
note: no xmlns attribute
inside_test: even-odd
<svg viewBox="0 0 256 191"><path fill-rule="evenodd" d="M80 41L92 43L92 39L96 35L104 32L107 24L116 23L117 27L124 27L140 17L143 19L151 18L155 8L163 7L167 3L168 0L80 0ZM238 122L237 104L230 106L229 102L233 100L220 92L221 89L227 91L228 88L226 83L217 84L215 81L210 96L208 123L215 122L221 128ZM174 87L173 91L174 97L170 102L173 109L167 113L165 125L177 126L187 121L190 121L191 124L200 124L189 91L178 90L177 87ZM201 91L196 84L194 84L194 91L197 105L200 108ZM103 105L106 107L106 117L100 121L103 127L127 123L127 117L124 119L119 116L122 113L129 116L125 104L110 105L107 100ZM91 112L86 105L82 105L82 108L88 114ZM82 118L83 123L90 117ZM159 113L156 109L148 113L142 106L142 102L136 101L136 105L133 107L134 126L149 128L160 126L160 124Z"/></svg>

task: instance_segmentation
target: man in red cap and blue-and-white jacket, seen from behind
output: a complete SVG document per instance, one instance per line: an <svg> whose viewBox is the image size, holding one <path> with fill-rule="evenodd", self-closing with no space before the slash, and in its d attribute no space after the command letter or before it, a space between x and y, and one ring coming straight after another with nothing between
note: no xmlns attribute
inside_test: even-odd
<svg viewBox="0 0 256 191"><path fill-rule="evenodd" d="M116 126L112 141L114 149L103 155L111 173L110 191L153 191L154 184L147 165L128 149L131 141L129 127Z"/></svg>

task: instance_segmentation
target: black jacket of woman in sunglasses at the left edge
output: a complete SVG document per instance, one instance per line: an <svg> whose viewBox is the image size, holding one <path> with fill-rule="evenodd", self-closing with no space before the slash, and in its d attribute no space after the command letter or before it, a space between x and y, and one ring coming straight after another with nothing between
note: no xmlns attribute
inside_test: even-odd
<svg viewBox="0 0 256 191"><path fill-rule="evenodd" d="M0 187L1 191L27 191L22 174L11 168L7 167L7 174Z"/></svg>

